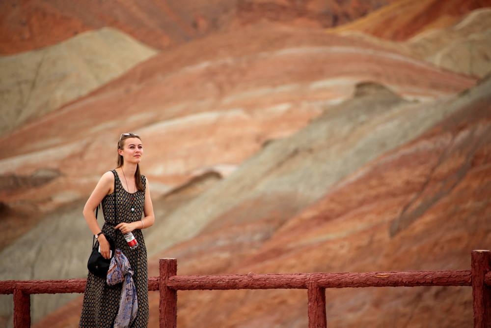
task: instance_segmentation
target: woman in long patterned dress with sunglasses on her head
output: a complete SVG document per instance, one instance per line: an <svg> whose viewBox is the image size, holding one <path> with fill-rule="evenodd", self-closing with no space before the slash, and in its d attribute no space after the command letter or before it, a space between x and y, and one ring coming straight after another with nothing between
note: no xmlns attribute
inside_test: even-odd
<svg viewBox="0 0 491 328"><path fill-rule="evenodd" d="M109 237L130 262L138 302L137 315L131 327L137 328L147 327L148 324L147 250L141 229L151 227L155 221L148 179L140 175L138 165L142 155L140 137L133 133L121 134L117 167L102 176L83 209L83 216L89 229L97 236L103 257L109 259L109 242L106 238ZM105 219L102 229L94 215L94 210L101 202ZM123 235L128 232L132 232L138 242L135 249L131 249L124 239ZM121 284L108 285L106 279L88 272L79 327L113 327L119 309L121 288Z"/></svg>

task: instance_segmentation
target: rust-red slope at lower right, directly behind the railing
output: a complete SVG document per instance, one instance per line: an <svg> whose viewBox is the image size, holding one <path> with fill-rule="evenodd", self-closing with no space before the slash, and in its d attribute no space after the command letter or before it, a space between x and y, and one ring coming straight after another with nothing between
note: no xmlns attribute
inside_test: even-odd
<svg viewBox="0 0 491 328"><path fill-rule="evenodd" d="M222 262L209 254L225 249L231 254L223 273L470 268L470 251L491 243L490 82L486 96L337 182L262 245L250 239L242 252L232 245L186 251L197 245L192 240L206 245L237 224L220 219L161 257L179 254L183 274L200 271L199 258ZM326 299L329 327L457 328L473 321L470 288L326 290ZM305 291L192 291L178 296L178 308L180 327L307 325Z"/></svg>

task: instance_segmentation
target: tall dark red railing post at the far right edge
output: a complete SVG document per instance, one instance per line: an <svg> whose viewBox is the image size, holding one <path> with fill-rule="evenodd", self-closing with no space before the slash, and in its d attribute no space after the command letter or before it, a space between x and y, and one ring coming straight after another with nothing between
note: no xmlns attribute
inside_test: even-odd
<svg viewBox="0 0 491 328"><path fill-rule="evenodd" d="M491 287L484 276L491 270L491 252L473 250L471 258L472 297L474 299L474 328L491 327Z"/></svg>

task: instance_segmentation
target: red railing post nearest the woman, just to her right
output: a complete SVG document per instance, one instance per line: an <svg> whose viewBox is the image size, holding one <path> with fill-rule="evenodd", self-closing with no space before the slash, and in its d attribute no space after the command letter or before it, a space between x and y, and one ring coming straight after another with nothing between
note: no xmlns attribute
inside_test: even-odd
<svg viewBox="0 0 491 328"><path fill-rule="evenodd" d="M167 280L177 274L177 259L159 259L160 328L177 328L177 290L167 287Z"/></svg>

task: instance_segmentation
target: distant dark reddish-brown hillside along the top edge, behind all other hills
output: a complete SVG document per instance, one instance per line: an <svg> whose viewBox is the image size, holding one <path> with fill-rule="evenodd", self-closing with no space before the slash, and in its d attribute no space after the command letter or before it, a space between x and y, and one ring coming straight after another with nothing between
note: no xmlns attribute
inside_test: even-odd
<svg viewBox="0 0 491 328"><path fill-rule="evenodd" d="M86 30L113 27L156 49L261 19L331 27L391 0L6 0L0 2L0 54L53 45Z"/></svg>

